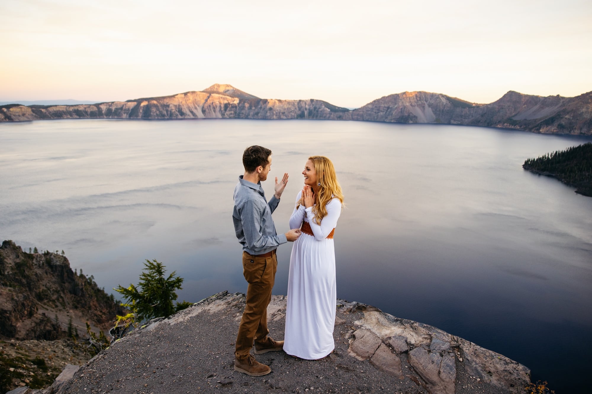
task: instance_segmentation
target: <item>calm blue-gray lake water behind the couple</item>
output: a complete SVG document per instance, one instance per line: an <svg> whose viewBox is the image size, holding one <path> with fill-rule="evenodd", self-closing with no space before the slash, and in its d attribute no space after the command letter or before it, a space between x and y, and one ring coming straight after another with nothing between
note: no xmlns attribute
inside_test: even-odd
<svg viewBox="0 0 592 394"><path fill-rule="evenodd" d="M137 283L144 259L185 278L179 300L246 291L231 221L244 147L290 175L330 157L347 208L337 296L435 325L530 367L556 392L592 367L592 198L522 169L592 138L339 121L61 120L0 124L0 238L64 250L99 286ZM291 246L274 293L287 292Z"/></svg>

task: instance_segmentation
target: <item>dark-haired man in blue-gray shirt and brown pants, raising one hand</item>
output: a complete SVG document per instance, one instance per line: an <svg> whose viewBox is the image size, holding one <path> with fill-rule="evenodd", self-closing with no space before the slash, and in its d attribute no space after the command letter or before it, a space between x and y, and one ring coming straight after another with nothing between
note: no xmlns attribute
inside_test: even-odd
<svg viewBox="0 0 592 394"><path fill-rule="evenodd" d="M271 214L288 183L288 174L284 174L281 183L275 177L275 193L268 203L261 182L267 179L271 170L271 150L256 145L246 148L243 166L244 175L239 176L239 183L234 188L232 219L236 237L243 246L243 275L249 286L236 338L234 370L250 376L263 376L270 373L271 368L251 356L253 340L255 354L279 351L284 347L284 341L274 341L269 337L267 328L267 306L271 301L278 266L275 250L287 241L297 240L300 230L280 235L275 232Z"/></svg>

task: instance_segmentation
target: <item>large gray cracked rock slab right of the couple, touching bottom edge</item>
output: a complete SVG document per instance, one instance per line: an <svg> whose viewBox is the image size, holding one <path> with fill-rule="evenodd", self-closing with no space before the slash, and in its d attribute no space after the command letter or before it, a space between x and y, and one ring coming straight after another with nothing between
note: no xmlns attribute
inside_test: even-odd
<svg viewBox="0 0 592 394"><path fill-rule="evenodd" d="M408 354L409 364L426 382L432 394L454 394L456 366L454 356L445 353L428 353L423 347L416 347Z"/></svg>

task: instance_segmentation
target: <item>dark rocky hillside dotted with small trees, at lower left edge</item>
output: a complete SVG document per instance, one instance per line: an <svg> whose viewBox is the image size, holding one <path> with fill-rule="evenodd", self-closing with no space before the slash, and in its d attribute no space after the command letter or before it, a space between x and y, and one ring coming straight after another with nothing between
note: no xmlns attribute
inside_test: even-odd
<svg viewBox="0 0 592 394"><path fill-rule="evenodd" d="M0 247L0 337L56 340L72 329L86 334L112 327L123 309L91 277L75 274L64 256L25 253L12 241Z"/></svg>

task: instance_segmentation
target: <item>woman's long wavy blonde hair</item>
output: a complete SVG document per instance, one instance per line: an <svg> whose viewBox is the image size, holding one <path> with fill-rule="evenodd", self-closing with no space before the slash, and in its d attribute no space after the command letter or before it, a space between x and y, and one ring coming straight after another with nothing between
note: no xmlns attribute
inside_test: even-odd
<svg viewBox="0 0 592 394"><path fill-rule="evenodd" d="M317 173L317 184L320 183L318 193L314 193L314 202L317 205L313 205L314 221L320 224L321 220L327 215L327 204L333 198L339 199L342 206L345 206L343 204L343 193L337 180L333 162L329 158L325 156L311 156L308 157L308 160L313 162L314 171ZM297 208L303 204L304 196L298 201Z"/></svg>

